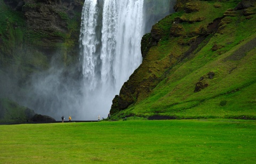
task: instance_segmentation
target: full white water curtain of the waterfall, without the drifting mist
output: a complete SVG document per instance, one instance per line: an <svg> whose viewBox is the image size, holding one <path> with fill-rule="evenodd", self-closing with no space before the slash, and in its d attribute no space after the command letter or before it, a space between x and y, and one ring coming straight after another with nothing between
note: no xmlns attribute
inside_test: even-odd
<svg viewBox="0 0 256 164"><path fill-rule="evenodd" d="M111 100L141 63L143 36L143 0L103 1L102 21L97 3L85 0L80 36L83 108L94 118L107 115ZM101 34L97 34L99 29Z"/></svg>

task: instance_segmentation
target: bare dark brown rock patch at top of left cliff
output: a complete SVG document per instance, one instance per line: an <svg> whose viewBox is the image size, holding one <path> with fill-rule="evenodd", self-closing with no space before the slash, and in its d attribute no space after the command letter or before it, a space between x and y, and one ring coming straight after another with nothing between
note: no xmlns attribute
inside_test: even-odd
<svg viewBox="0 0 256 164"><path fill-rule="evenodd" d="M22 11L26 17L26 24L33 30L58 30L67 32L67 22L73 18L75 11L82 11L82 5L76 1L35 1L25 0ZM82 2L82 1L81 1Z"/></svg>

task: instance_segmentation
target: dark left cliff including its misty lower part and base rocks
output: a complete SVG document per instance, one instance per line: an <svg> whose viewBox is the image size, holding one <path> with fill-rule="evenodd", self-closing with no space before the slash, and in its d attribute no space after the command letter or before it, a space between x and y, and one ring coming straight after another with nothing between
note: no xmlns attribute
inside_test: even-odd
<svg viewBox="0 0 256 164"><path fill-rule="evenodd" d="M0 1L0 98L22 96L17 92L30 75L50 68L53 56L58 61L54 64L67 70L77 62L83 2ZM0 99L0 111L5 122L35 120L24 113L25 107L9 99Z"/></svg>

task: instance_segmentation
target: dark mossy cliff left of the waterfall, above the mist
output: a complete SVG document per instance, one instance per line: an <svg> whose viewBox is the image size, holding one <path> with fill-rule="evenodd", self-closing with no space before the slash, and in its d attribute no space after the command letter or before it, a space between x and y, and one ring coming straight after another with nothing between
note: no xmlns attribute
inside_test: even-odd
<svg viewBox="0 0 256 164"><path fill-rule="evenodd" d="M54 53L61 53L60 59L65 64L74 61L78 54L82 6L81 0L1 2L1 65L8 67L15 62L14 56L29 55L34 58L31 65L45 69ZM35 60L40 64L34 64Z"/></svg>

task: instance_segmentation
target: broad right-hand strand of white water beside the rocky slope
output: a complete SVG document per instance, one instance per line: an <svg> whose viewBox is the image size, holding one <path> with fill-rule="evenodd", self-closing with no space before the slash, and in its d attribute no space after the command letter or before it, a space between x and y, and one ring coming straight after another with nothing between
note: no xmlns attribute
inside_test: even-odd
<svg viewBox="0 0 256 164"><path fill-rule="evenodd" d="M121 0L122 1L122 0ZM118 90L141 64L140 42L145 34L143 1L122 1L118 15L116 58L114 63Z"/></svg>

